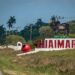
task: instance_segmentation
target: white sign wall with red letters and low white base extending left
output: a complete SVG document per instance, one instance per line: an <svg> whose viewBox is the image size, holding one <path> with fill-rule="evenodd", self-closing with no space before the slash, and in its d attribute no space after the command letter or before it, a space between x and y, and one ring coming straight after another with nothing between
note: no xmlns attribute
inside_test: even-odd
<svg viewBox="0 0 75 75"><path fill-rule="evenodd" d="M37 53L39 51L66 50L74 48L75 38L46 38L45 40L37 42L37 47L34 51L17 54L17 56Z"/></svg>

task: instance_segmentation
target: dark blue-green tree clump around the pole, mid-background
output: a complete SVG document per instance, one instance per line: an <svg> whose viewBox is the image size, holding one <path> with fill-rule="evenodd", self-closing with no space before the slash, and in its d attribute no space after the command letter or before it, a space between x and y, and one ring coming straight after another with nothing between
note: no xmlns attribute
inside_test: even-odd
<svg viewBox="0 0 75 75"><path fill-rule="evenodd" d="M32 40L35 40L39 37L39 28L42 26L48 26L48 23L44 23L42 19L38 19L35 24L26 25L24 29L20 31L20 35L27 41L30 40L30 36L32 37Z"/></svg>

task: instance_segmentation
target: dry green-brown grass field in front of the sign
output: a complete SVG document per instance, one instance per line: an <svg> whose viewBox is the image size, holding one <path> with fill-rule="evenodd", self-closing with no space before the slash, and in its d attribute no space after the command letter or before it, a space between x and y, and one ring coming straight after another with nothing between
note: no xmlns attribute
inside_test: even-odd
<svg viewBox="0 0 75 75"><path fill-rule="evenodd" d="M11 49L0 50L4 75L75 75L75 50L39 52L16 56Z"/></svg>

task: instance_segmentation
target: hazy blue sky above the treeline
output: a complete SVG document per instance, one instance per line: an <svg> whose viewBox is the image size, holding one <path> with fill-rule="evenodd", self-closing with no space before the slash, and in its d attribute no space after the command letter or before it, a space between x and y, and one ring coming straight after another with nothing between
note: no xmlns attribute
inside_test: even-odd
<svg viewBox="0 0 75 75"><path fill-rule="evenodd" d="M75 0L0 0L0 24L7 27L10 16L15 16L15 28L35 23L41 18L49 22L51 16L65 17L62 21L75 19Z"/></svg>

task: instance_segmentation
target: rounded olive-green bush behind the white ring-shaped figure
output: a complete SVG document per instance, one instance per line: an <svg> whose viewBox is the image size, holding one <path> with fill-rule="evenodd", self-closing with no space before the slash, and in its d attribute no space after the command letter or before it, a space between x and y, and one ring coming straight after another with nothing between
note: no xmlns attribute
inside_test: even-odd
<svg viewBox="0 0 75 75"><path fill-rule="evenodd" d="M24 40L23 37L18 36L18 35L8 35L6 37L6 44L10 44L10 45L16 45L16 43L20 41L22 43L26 43L26 41Z"/></svg>

